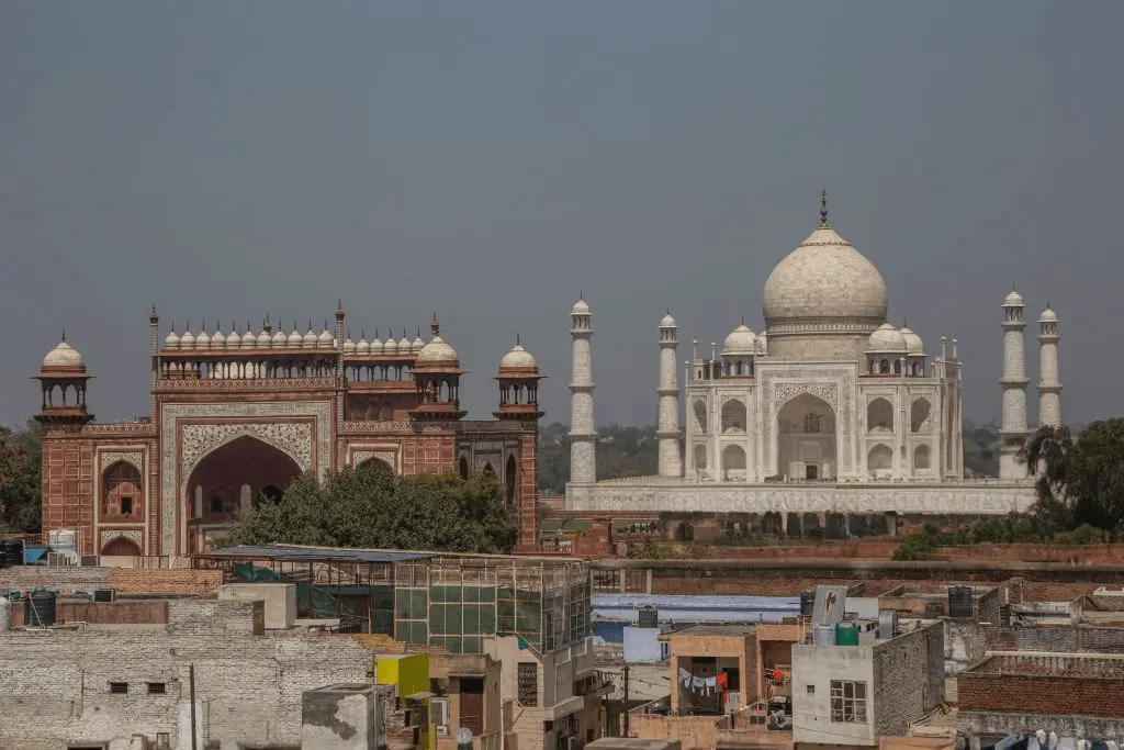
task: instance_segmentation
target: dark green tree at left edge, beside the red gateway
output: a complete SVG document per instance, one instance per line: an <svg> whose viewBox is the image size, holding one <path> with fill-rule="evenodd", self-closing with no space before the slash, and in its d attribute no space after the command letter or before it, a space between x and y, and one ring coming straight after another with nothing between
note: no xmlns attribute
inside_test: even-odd
<svg viewBox="0 0 1124 750"><path fill-rule="evenodd" d="M42 436L37 422L17 433L0 427L0 526L7 531L42 528Z"/></svg>

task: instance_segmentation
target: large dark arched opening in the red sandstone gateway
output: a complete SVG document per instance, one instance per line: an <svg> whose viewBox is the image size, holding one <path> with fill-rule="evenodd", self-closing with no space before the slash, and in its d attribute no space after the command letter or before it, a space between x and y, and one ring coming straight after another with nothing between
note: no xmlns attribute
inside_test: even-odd
<svg viewBox="0 0 1124 750"><path fill-rule="evenodd" d="M266 489L284 493L298 475L300 467L288 454L250 435L208 453L185 485L184 552L210 549L251 512L254 498Z"/></svg>

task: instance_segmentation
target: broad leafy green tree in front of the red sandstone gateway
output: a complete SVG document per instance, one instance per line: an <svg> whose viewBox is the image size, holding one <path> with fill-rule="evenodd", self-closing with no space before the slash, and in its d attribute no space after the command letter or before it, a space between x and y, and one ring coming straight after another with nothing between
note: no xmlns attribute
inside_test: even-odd
<svg viewBox="0 0 1124 750"><path fill-rule="evenodd" d="M348 468L323 482L298 477L280 503L259 503L224 544L507 552L517 536L495 479L397 479L379 469Z"/></svg>

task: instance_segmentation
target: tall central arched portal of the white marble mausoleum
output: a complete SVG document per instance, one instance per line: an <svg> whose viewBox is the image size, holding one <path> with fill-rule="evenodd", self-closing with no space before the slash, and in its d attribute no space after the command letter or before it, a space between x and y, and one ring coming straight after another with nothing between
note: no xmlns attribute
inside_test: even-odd
<svg viewBox="0 0 1124 750"><path fill-rule="evenodd" d="M822 398L800 394L777 415L777 473L796 480L835 476L835 413Z"/></svg>

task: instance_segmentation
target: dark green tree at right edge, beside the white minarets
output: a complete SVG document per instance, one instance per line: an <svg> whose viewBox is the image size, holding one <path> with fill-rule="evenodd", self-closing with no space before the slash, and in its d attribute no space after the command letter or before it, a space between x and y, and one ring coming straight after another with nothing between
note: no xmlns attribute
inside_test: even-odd
<svg viewBox="0 0 1124 750"><path fill-rule="evenodd" d="M1073 440L1043 427L1021 453L1036 477L1035 513L1062 528L1115 532L1124 524L1124 418L1094 422Z"/></svg>

